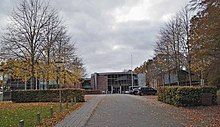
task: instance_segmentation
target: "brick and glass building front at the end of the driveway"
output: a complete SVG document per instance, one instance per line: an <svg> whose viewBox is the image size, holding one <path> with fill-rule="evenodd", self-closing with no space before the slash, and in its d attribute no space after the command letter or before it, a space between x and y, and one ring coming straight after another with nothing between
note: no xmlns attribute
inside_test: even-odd
<svg viewBox="0 0 220 127"><path fill-rule="evenodd" d="M131 71L94 73L91 75L92 90L105 91L106 93L124 93L132 85L138 86L138 76Z"/></svg>

